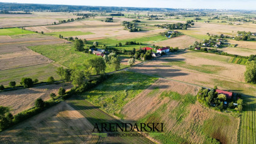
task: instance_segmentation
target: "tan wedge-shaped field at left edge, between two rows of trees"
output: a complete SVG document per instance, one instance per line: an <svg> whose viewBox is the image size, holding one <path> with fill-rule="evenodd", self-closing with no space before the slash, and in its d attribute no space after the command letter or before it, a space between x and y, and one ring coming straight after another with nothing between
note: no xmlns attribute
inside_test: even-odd
<svg viewBox="0 0 256 144"><path fill-rule="evenodd" d="M31 87L28 89L20 89L16 91L7 91L0 93L0 106L8 106L11 113L18 114L25 109L31 108L35 104L35 100L42 98L44 101L50 99L50 94L57 94L58 89L63 87L66 91L72 88L70 83L53 84L46 86Z"/></svg>

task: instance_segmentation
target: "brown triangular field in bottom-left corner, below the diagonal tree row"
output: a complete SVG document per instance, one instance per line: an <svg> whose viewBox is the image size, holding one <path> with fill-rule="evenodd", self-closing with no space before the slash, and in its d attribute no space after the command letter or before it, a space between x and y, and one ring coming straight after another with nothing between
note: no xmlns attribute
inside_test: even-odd
<svg viewBox="0 0 256 144"><path fill-rule="evenodd" d="M81 113L61 102L0 133L0 143L97 143L93 128Z"/></svg>

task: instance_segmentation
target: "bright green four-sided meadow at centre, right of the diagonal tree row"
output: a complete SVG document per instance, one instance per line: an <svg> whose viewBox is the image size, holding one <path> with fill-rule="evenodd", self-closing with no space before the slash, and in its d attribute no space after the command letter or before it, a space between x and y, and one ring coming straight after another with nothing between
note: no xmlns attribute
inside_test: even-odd
<svg viewBox="0 0 256 144"><path fill-rule="evenodd" d="M122 118L120 111L123 106L151 86L155 80L156 77L134 72L116 72L103 84L82 94L82 97L107 113Z"/></svg>

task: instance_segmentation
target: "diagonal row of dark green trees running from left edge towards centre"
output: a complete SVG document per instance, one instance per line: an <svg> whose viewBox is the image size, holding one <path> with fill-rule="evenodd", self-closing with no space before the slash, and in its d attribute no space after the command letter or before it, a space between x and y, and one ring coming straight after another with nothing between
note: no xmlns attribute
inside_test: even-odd
<svg viewBox="0 0 256 144"><path fill-rule="evenodd" d="M107 77L106 75L101 75L98 78L94 78L93 80L84 80L85 73L80 72L78 69L75 69L76 71L72 72L72 75L70 75L72 84L74 84L75 87L73 87L70 91L66 92L63 87L60 87L58 90L58 95L56 94L50 94L50 97L52 99L48 101L43 101L43 99L38 98L35 101L35 106L33 108L27 109L25 111L21 111L21 113L16 114L13 116L11 113L9 113L9 108L0 106L0 131L6 130L6 128L9 128L10 126L16 125L17 123L20 123L21 121L24 121L25 119L31 118L31 116L35 116L38 113L41 113L47 108L50 108L51 106L54 106L55 104L58 104L60 101L59 99L67 99L70 96L73 96L74 94L79 94L81 92L87 91L88 89L91 89L94 86L97 86L100 82L103 82ZM62 74L62 77L64 79L67 78L67 73L69 70L58 68L58 72ZM84 81L83 81L84 80Z"/></svg>

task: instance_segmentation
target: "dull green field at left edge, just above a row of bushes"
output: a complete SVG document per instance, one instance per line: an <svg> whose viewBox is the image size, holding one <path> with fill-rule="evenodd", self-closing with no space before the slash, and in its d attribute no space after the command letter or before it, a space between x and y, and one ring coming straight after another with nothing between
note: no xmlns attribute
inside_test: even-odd
<svg viewBox="0 0 256 144"><path fill-rule="evenodd" d="M59 77L55 72L57 67L52 64L33 65L29 67L21 67L9 70L0 70L0 85L8 86L10 81L16 81L16 86L22 77L30 77L31 79L38 79L39 81L46 81L48 77L52 76L55 80Z"/></svg>

